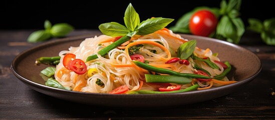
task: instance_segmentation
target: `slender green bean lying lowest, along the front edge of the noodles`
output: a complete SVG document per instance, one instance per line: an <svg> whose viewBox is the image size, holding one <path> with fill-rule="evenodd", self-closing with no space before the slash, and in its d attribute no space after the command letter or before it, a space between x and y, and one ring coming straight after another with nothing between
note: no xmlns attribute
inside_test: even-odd
<svg viewBox="0 0 275 120"><path fill-rule="evenodd" d="M134 90L134 91L128 91L128 92L126 92L126 94L178 93L178 92L193 91L193 90L196 90L198 87L199 87L199 85L195 84L195 85L192 85L190 87L187 87L185 89L180 89L180 90L173 90L173 91Z"/></svg>

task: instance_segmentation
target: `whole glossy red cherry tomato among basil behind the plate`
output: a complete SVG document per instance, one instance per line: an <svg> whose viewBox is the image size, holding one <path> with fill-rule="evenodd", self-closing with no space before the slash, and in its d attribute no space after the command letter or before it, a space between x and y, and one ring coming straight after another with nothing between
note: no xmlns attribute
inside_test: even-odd
<svg viewBox="0 0 275 120"><path fill-rule="evenodd" d="M217 27L218 19L207 9L196 11L190 18L189 29L192 34L209 36Z"/></svg>

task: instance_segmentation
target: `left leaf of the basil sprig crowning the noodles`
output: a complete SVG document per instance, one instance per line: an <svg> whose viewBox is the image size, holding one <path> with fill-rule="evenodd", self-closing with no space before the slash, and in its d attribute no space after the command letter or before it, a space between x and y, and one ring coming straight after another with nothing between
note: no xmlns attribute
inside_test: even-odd
<svg viewBox="0 0 275 120"><path fill-rule="evenodd" d="M128 34L129 30L118 22L108 22L99 25L100 31L109 36L123 36Z"/></svg>

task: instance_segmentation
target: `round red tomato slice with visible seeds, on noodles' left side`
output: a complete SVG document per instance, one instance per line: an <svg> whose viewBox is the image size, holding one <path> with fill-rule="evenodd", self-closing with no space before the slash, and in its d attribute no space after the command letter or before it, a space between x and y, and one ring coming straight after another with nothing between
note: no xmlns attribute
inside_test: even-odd
<svg viewBox="0 0 275 120"><path fill-rule="evenodd" d="M69 67L77 74L84 74L87 71L87 65L81 59L72 60Z"/></svg>

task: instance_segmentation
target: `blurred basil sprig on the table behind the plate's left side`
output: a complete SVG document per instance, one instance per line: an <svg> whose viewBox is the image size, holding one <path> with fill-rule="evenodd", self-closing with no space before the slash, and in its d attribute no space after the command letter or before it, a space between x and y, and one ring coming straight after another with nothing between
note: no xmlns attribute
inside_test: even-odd
<svg viewBox="0 0 275 120"><path fill-rule="evenodd" d="M27 41L28 42L39 42L45 41L52 37L64 37L68 33L74 30L74 27L68 23L56 23L52 25L49 20L45 20L44 28L32 32Z"/></svg>

